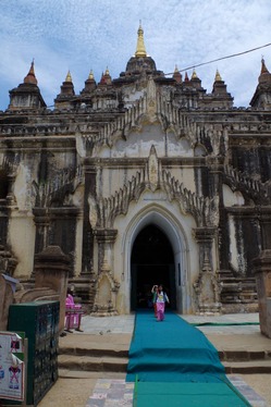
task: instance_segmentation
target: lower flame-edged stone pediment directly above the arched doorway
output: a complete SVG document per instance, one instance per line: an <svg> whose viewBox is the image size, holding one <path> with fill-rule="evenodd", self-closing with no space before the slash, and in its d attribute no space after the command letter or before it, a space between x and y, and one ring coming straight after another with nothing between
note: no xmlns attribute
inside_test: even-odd
<svg viewBox="0 0 271 407"><path fill-rule="evenodd" d="M116 190L114 195L101 198L98 202L89 197L89 202L91 202L90 211L93 210L94 212L94 215L90 214L90 219L93 221L95 218L97 221L95 226L113 227L115 218L119 214L126 214L130 203L133 200L138 200L146 189L150 189L152 193L158 189L165 192L169 201L176 200L181 211L185 214L192 214L198 227L218 224L218 198L199 197L185 188L183 183L180 183L171 175L170 171L162 170L161 162L152 146L145 168L137 171L136 175Z"/></svg>

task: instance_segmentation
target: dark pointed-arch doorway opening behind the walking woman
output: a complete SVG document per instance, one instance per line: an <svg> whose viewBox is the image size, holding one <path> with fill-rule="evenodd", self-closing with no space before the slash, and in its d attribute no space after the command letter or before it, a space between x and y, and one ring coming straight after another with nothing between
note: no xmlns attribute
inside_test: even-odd
<svg viewBox="0 0 271 407"><path fill-rule="evenodd" d="M162 284L170 297L170 307L176 307L174 256L165 234L150 224L138 233L131 256L131 309L150 307L151 287Z"/></svg>

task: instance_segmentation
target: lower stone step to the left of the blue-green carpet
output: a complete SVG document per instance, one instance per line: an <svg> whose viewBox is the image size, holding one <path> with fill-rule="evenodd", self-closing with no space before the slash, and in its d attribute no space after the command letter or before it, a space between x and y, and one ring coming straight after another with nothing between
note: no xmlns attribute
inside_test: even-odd
<svg viewBox="0 0 271 407"><path fill-rule="evenodd" d="M96 372L126 372L128 358L59 355L59 369Z"/></svg>

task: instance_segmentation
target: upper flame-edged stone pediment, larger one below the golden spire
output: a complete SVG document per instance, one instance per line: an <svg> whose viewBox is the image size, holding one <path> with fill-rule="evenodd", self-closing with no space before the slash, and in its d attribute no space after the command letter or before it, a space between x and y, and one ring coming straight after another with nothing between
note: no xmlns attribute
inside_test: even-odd
<svg viewBox="0 0 271 407"><path fill-rule="evenodd" d="M196 123L192 116L169 103L157 89L153 79L147 83L146 91L124 113L85 135L86 149L98 153L102 146L111 148L119 139L127 139L134 130L139 131L146 123L160 123L164 133L173 132L177 139L186 137L190 148L202 145L208 155L223 155L227 148L227 130L217 130L210 124Z"/></svg>

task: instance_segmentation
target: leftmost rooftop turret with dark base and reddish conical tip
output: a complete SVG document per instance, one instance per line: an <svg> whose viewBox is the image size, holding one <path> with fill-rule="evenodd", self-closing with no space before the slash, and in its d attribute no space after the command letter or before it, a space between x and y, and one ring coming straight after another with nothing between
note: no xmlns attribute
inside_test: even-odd
<svg viewBox="0 0 271 407"><path fill-rule="evenodd" d="M33 61L23 84L20 84L16 88L10 90L9 110L40 109L45 107L46 102L44 101L38 87Z"/></svg>

